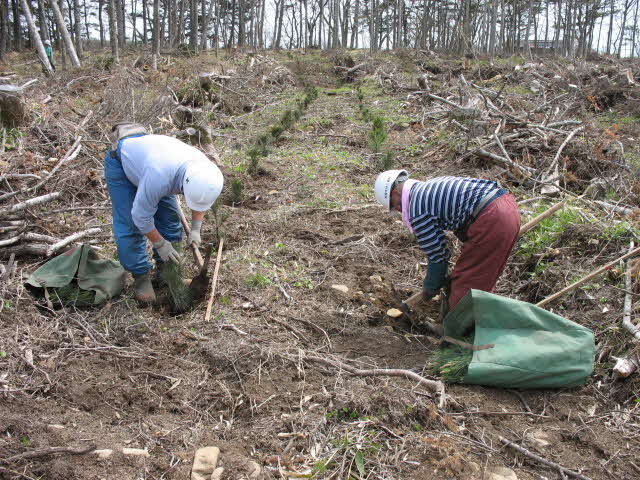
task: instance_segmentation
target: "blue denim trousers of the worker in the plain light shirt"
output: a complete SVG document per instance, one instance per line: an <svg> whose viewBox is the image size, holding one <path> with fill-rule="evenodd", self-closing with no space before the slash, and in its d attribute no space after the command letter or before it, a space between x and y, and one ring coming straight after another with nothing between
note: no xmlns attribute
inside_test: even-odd
<svg viewBox="0 0 640 480"><path fill-rule="evenodd" d="M107 152L104 158L104 176L111 197L113 235L118 247L118 260L125 270L140 275L151 269L147 254L147 238L133 223L131 209L138 188L129 181L122 164ZM178 202L174 195L162 197L153 217L160 235L169 242L182 240L182 226L178 215ZM154 258L158 260L154 252Z"/></svg>

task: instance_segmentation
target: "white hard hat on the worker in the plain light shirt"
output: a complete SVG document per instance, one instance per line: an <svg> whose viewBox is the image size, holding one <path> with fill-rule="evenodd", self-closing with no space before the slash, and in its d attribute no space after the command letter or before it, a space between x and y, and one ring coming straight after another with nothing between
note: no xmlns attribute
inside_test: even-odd
<svg viewBox="0 0 640 480"><path fill-rule="evenodd" d="M223 184L222 172L215 164L201 160L189 162L182 182L187 205L196 212L208 210L220 195Z"/></svg>

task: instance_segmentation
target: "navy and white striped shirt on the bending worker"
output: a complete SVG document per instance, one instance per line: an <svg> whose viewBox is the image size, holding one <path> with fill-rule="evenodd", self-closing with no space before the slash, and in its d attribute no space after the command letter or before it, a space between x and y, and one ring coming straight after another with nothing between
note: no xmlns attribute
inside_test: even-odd
<svg viewBox="0 0 640 480"><path fill-rule="evenodd" d="M466 226L478 203L500 185L492 180L438 177L411 188L409 221L429 263L449 260L445 230Z"/></svg>

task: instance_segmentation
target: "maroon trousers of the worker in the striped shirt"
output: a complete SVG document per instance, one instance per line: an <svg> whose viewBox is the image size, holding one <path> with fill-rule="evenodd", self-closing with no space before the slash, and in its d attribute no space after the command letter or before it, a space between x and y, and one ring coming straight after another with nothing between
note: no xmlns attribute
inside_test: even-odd
<svg viewBox="0 0 640 480"><path fill-rule="evenodd" d="M451 273L449 308L475 288L492 292L518 239L520 211L505 193L487 205L467 229L460 257Z"/></svg>

